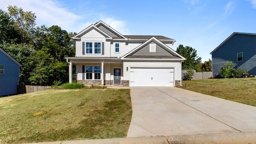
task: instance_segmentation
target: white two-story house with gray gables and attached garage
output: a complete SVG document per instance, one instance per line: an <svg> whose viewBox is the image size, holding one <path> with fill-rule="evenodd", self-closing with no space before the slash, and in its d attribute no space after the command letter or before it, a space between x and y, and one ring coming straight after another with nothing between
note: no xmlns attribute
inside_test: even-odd
<svg viewBox="0 0 256 144"><path fill-rule="evenodd" d="M184 57L172 46L176 40L165 36L122 35L104 22L90 25L73 37L76 81L87 85L176 86L181 84Z"/></svg>

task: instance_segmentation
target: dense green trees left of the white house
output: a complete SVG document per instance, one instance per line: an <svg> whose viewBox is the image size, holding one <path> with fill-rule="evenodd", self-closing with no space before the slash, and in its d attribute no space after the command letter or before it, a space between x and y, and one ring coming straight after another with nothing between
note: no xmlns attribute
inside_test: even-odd
<svg viewBox="0 0 256 144"><path fill-rule="evenodd" d="M0 48L17 60L21 85L59 85L68 82L68 63L75 56L72 36L60 26L36 27L36 16L17 6L0 9Z"/></svg>

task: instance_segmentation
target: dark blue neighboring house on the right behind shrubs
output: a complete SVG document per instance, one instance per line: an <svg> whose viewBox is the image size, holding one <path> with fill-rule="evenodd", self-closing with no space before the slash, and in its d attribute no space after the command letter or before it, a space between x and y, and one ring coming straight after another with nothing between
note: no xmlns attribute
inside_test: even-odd
<svg viewBox="0 0 256 144"><path fill-rule="evenodd" d="M227 61L232 61L234 68L239 66L250 75L256 75L256 34L234 32L210 54L214 78Z"/></svg>

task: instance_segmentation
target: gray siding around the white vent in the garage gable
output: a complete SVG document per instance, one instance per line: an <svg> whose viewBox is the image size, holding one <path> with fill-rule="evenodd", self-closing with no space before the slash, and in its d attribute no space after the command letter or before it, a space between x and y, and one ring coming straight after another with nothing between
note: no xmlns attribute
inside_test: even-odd
<svg viewBox="0 0 256 144"><path fill-rule="evenodd" d="M155 44L155 43L150 42L150 44ZM134 56L174 56L173 54L171 54L170 52L168 52L158 44L156 44L156 52L149 52L150 44L147 44L146 46L144 46L143 48L141 48L140 50L138 50L132 55Z"/></svg>

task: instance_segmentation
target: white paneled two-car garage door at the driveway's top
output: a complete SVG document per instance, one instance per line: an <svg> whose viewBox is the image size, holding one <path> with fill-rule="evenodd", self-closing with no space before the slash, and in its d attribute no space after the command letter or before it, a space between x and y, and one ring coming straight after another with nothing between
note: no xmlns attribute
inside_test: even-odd
<svg viewBox="0 0 256 144"><path fill-rule="evenodd" d="M174 68L131 68L130 86L174 86Z"/></svg>

